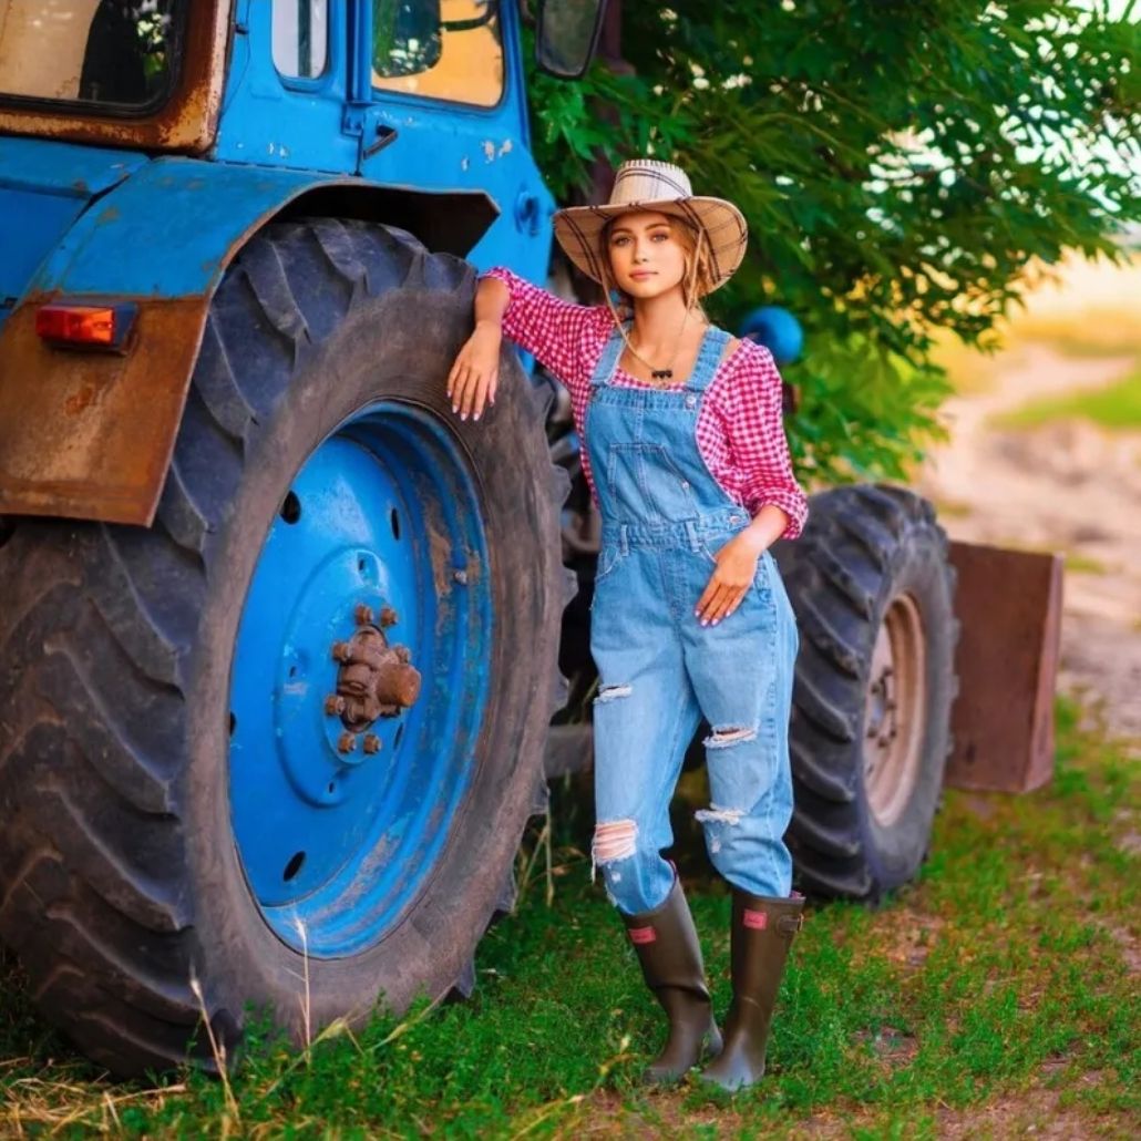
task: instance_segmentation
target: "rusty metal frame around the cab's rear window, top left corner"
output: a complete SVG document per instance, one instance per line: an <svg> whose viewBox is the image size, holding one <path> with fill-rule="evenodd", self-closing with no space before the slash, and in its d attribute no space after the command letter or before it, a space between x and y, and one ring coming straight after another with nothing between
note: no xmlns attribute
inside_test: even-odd
<svg viewBox="0 0 1141 1141"><path fill-rule="evenodd" d="M74 105L0 104L0 131L102 146L201 154L213 141L226 81L232 0L200 0L186 21L183 67L170 99L151 115L82 114Z"/></svg>

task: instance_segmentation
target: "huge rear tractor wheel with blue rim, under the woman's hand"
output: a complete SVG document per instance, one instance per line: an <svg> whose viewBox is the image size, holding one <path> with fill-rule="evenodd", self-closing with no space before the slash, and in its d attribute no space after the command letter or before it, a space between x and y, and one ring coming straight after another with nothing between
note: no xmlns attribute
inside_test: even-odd
<svg viewBox="0 0 1141 1141"><path fill-rule="evenodd" d="M0 549L0 937L116 1074L209 1066L203 1015L232 1057L248 1008L300 1041L468 989L509 906L565 479L512 354L478 423L447 408L472 294L402 232L270 226L154 526Z"/></svg>

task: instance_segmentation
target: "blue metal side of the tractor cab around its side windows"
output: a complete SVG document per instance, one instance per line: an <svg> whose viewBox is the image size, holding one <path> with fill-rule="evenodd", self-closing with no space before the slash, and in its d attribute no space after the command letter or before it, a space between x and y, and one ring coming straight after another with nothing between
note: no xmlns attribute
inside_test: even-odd
<svg viewBox="0 0 1141 1141"><path fill-rule="evenodd" d="M372 3L333 3L330 65L318 80L278 75L268 3L243 0L215 157L276 169L359 172L389 186L483 191L500 216L468 254L480 268L507 265L547 276L555 200L531 154L518 6L500 5L504 92L478 107L372 89ZM378 128L390 145L362 161Z"/></svg>

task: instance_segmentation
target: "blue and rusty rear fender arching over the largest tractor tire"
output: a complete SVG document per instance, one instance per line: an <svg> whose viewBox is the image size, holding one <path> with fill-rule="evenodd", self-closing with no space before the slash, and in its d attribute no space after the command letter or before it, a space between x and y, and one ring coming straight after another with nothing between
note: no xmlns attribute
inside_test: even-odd
<svg viewBox="0 0 1141 1141"><path fill-rule="evenodd" d="M499 213L479 192L162 157L96 199L0 329L0 516L149 526L207 310L226 267L270 219L383 221L466 254ZM46 304L135 307L121 353L51 347Z"/></svg>

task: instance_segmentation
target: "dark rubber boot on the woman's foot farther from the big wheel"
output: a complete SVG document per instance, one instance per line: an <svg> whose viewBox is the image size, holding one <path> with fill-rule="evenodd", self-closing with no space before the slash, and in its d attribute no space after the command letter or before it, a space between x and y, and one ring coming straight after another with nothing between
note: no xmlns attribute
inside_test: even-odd
<svg viewBox="0 0 1141 1141"><path fill-rule="evenodd" d="M741 1090L764 1074L772 1008L793 937L803 922L804 897L788 899L733 892L733 1003L725 1046L702 1071L723 1090Z"/></svg>

